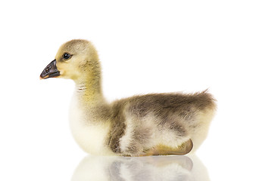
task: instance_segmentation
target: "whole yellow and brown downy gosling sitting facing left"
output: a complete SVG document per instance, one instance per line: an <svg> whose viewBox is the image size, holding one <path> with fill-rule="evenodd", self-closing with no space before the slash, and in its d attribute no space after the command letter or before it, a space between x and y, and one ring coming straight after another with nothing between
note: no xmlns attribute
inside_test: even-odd
<svg viewBox="0 0 256 181"><path fill-rule="evenodd" d="M107 103L93 45L74 39L61 45L40 78L70 78L76 90L70 127L76 142L95 155L185 155L206 138L216 104L195 94L146 94Z"/></svg>

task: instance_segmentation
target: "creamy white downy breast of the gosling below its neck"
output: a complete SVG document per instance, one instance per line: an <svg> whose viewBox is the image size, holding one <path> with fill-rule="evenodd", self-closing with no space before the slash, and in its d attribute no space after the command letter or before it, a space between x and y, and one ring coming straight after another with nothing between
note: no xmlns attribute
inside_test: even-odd
<svg viewBox="0 0 256 181"><path fill-rule="evenodd" d="M70 128L76 143L86 152L96 155L111 155L111 150L105 146L110 130L108 123L90 123L86 109L78 104L76 93L70 105Z"/></svg>

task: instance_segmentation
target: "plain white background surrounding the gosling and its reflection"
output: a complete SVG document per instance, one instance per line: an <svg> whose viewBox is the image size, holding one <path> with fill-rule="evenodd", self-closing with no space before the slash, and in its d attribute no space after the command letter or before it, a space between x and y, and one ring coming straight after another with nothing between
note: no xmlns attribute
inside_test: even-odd
<svg viewBox="0 0 256 181"><path fill-rule="evenodd" d="M86 156L68 125L73 82L39 75L92 41L108 100L205 90L217 115L197 155L211 180L255 179L254 1L0 2L0 180L70 180Z"/></svg>

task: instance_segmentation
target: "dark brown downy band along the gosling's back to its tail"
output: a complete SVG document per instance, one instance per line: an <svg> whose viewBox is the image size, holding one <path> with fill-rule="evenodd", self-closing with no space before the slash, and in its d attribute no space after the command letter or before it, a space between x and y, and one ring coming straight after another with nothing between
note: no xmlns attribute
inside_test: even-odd
<svg viewBox="0 0 256 181"><path fill-rule="evenodd" d="M128 98L130 111L138 116L145 116L150 112L165 120L169 113L177 113L184 118L189 118L192 109L197 111L215 106L214 98L207 90L196 94L146 94Z"/></svg>

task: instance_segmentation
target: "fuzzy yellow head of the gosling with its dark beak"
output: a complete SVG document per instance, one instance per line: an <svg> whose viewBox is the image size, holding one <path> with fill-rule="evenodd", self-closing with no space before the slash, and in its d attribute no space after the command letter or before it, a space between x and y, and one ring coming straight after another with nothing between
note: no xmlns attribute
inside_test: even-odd
<svg viewBox="0 0 256 181"><path fill-rule="evenodd" d="M88 64L97 62L95 60L98 60L98 54L89 41L73 39L61 45L55 60L45 67L40 78L70 78L76 81L85 75Z"/></svg>

